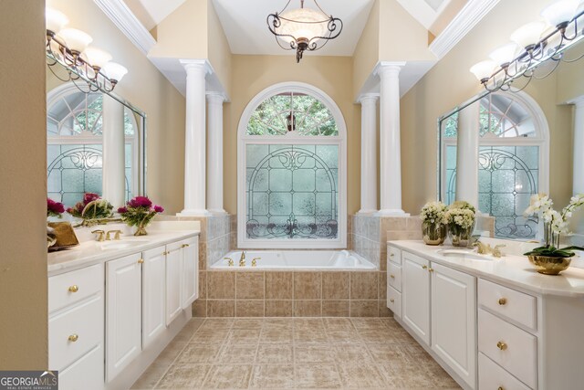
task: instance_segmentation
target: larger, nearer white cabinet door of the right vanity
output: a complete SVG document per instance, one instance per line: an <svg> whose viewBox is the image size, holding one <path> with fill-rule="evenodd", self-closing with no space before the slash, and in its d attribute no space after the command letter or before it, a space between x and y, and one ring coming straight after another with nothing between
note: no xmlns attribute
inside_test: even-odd
<svg viewBox="0 0 584 390"><path fill-rule="evenodd" d="M476 381L476 280L432 263L432 349L468 385Z"/></svg>

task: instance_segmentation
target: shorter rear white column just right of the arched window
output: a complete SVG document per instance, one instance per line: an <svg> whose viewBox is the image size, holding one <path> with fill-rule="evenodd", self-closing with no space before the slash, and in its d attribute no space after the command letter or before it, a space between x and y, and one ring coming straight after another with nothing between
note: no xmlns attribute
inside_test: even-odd
<svg viewBox="0 0 584 390"><path fill-rule="evenodd" d="M368 93L361 103L361 209L359 214L371 214L377 209L377 99Z"/></svg>

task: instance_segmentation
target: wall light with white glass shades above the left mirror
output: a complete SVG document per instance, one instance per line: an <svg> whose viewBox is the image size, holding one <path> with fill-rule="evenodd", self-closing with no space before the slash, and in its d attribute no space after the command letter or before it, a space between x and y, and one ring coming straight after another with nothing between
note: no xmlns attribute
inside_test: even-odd
<svg viewBox="0 0 584 390"><path fill-rule="evenodd" d="M110 92L128 73L128 69L110 61L109 53L89 47L93 39L88 34L76 28L63 28L68 24L68 17L62 12L47 8L45 16L47 65L58 79L73 81L83 92ZM57 75L53 69L57 63L67 69L66 76ZM78 79L87 83L85 90L79 87Z"/></svg>

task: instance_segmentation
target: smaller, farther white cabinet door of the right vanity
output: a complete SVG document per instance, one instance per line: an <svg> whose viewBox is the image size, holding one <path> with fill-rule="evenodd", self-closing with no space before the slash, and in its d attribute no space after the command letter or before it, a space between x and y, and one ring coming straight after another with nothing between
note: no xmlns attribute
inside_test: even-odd
<svg viewBox="0 0 584 390"><path fill-rule="evenodd" d="M408 252L401 254L401 319L430 345L430 262Z"/></svg>

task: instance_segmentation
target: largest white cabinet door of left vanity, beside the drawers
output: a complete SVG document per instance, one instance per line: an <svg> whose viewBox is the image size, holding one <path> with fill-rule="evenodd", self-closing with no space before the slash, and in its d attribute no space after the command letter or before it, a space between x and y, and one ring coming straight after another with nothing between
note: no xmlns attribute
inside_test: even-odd
<svg viewBox="0 0 584 390"><path fill-rule="evenodd" d="M108 382L141 353L141 254L106 263Z"/></svg>

